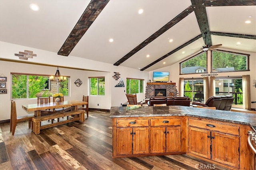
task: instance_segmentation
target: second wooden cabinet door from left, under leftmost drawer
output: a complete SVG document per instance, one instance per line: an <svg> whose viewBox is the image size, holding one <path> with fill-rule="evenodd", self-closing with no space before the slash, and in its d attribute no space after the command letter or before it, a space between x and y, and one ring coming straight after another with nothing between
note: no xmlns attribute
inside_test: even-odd
<svg viewBox="0 0 256 170"><path fill-rule="evenodd" d="M148 154L148 141L148 127L133 128L133 154Z"/></svg>

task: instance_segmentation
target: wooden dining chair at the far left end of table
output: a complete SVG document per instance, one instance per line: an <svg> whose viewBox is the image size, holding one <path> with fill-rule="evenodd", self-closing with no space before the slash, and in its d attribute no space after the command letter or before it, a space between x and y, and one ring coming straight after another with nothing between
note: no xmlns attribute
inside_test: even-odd
<svg viewBox="0 0 256 170"><path fill-rule="evenodd" d="M22 121L28 121L28 128L33 129L33 123L32 123L32 117L34 117L34 113L30 113L28 115L23 115L23 116L17 116L16 112L16 104L15 101L11 101L11 117L10 117L10 132L12 132L12 135L14 135L15 129L17 122L22 122Z"/></svg>

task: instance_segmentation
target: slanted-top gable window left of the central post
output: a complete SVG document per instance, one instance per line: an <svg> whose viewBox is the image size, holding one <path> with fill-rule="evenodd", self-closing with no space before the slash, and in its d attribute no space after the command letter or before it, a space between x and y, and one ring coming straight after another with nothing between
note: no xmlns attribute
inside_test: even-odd
<svg viewBox="0 0 256 170"><path fill-rule="evenodd" d="M180 74L195 74L206 72L207 60L206 52L191 57L180 63Z"/></svg>

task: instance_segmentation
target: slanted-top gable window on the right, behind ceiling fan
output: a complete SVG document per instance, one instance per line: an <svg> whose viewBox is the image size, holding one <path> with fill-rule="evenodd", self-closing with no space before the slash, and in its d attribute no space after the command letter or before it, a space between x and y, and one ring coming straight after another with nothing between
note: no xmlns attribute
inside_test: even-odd
<svg viewBox="0 0 256 170"><path fill-rule="evenodd" d="M212 51L212 72L234 72L249 70L249 56L224 50Z"/></svg>

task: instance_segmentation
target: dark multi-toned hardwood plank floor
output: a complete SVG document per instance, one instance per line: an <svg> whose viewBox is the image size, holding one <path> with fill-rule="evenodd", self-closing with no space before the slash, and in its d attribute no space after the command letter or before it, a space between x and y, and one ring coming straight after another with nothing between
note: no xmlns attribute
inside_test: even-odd
<svg viewBox="0 0 256 170"><path fill-rule="evenodd" d="M18 123L14 136L9 123L0 127L0 170L224 170L187 155L112 158L109 112L89 111L84 123L58 125L39 135L28 122Z"/></svg>

